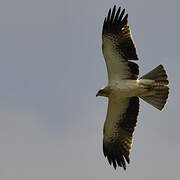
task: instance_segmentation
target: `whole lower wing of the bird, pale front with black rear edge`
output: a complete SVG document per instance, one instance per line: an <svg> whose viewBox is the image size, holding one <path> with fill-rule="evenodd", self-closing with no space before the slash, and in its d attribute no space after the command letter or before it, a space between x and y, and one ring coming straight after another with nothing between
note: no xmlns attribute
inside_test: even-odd
<svg viewBox="0 0 180 180"><path fill-rule="evenodd" d="M115 169L120 166L126 170L126 162L130 162L129 153L138 112L138 97L122 98L119 101L109 98L104 124L103 152Z"/></svg>

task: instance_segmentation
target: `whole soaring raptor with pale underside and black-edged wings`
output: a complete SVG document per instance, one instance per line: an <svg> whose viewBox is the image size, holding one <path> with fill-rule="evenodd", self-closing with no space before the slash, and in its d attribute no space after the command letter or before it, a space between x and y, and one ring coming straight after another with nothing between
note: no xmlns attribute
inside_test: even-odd
<svg viewBox="0 0 180 180"><path fill-rule="evenodd" d="M139 112L139 98L162 110L169 87L166 71L159 65L138 78L136 47L128 26L125 9L109 10L102 31L102 51L107 66L108 85L96 96L108 98L108 110L103 129L103 152L109 164L126 170L130 163L133 133Z"/></svg>

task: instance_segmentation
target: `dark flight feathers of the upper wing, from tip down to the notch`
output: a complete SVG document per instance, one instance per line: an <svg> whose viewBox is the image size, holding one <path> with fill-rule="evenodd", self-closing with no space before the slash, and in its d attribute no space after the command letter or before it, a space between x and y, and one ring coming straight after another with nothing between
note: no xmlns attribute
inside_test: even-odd
<svg viewBox="0 0 180 180"><path fill-rule="evenodd" d="M125 8L118 9L114 5L113 9L110 8L108 15L106 16L103 29L102 37L117 36L117 39L121 39L119 42L121 55L127 60L138 60L138 55L136 53L136 46L132 40L130 28L128 24L128 13L125 13ZM116 39L116 40L117 40Z"/></svg>

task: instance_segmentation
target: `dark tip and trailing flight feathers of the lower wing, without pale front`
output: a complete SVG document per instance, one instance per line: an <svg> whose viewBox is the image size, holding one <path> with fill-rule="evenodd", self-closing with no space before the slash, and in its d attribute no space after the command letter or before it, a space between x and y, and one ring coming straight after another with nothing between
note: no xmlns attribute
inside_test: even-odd
<svg viewBox="0 0 180 180"><path fill-rule="evenodd" d="M107 157L110 165L113 164L114 169L119 166L126 170L126 164L130 163L129 154L138 112L139 98L131 97L126 112L121 116L122 119L116 124L116 132L118 132L120 128L121 132L123 130L123 133L103 141L104 156Z"/></svg>

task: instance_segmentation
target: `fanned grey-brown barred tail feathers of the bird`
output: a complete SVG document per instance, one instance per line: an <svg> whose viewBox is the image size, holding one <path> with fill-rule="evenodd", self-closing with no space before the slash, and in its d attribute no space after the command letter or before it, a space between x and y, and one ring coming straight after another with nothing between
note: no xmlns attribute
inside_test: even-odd
<svg viewBox="0 0 180 180"><path fill-rule="evenodd" d="M169 81L163 66L159 65L149 73L142 76L140 79L154 80L154 83L150 87L151 95L140 96L140 98L155 108L162 110L166 104L169 94L169 87L167 86Z"/></svg>

